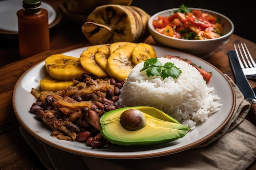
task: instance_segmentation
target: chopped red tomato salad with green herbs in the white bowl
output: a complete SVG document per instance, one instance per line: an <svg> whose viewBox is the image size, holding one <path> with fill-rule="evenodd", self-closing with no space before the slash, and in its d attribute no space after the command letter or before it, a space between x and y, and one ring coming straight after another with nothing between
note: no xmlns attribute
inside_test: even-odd
<svg viewBox="0 0 256 170"><path fill-rule="evenodd" d="M191 10L182 4L170 16L157 16L153 20L155 30L164 35L186 40L205 40L223 35L219 18L200 10Z"/></svg>

